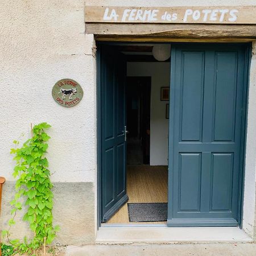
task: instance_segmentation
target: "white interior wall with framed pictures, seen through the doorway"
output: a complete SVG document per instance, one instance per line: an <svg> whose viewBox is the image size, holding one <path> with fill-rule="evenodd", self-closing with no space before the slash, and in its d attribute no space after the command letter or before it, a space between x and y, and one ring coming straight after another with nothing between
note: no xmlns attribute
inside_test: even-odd
<svg viewBox="0 0 256 256"><path fill-rule="evenodd" d="M127 76L151 77L150 164L167 166L169 120L166 119L166 104L169 101L160 101L160 88L170 86L170 63L127 63Z"/></svg>

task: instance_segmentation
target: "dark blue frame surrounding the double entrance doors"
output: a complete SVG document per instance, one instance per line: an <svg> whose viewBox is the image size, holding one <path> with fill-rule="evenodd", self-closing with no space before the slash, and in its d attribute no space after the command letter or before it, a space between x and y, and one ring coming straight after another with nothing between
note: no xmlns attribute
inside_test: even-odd
<svg viewBox="0 0 256 256"><path fill-rule="evenodd" d="M131 42L122 42L123 44L129 44ZM102 123L101 123L101 45L103 44L111 44L111 45L119 45L122 44L121 42L97 42L97 55L96 55L96 114L97 114L97 189L96 189L96 198L97 198L97 230L101 227L101 192L102 192L102 178L101 178L101 170L102 170L102 153L101 153L101 133L102 133ZM142 42L133 42L136 44L142 44ZM243 193L244 193L244 179L245 179L245 153L246 153L246 137L247 137L247 118L248 118L248 96L249 96L249 79L250 79L250 61L251 61L251 42L250 43L170 43L170 42L154 42L155 44L171 44L171 45L209 45L209 44L232 44L232 45L243 45L245 47L245 71L243 73L244 77L244 88L243 88L243 113L242 113L242 131L241 131L241 162L240 162L240 177L239 177L239 202L238 202L238 226L242 228L242 215L243 215ZM150 42L148 42L150 44ZM170 93L171 93L171 80L170 80ZM171 93L171 95L174 95ZM171 98L170 98L171 101ZM171 115L171 112L170 112ZM169 125L170 125L171 117L169 118ZM170 138L170 136L169 136ZM170 208L170 200L169 200L169 188L172 186L172 181L170 179L170 170L168 171L169 179L168 179L168 210ZM144 227L146 226L155 226L156 228L159 226L167 226L167 224L163 225L155 225L155 224L142 224ZM141 225L134 225L134 224L113 224L112 226L115 227L134 227L134 226L141 226Z"/></svg>

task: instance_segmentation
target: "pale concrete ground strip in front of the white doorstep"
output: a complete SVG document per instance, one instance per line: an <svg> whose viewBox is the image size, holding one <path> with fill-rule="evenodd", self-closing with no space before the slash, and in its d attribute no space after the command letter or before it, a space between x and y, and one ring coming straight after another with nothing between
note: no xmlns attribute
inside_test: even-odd
<svg viewBox="0 0 256 256"><path fill-rule="evenodd" d="M254 256L256 243L183 243L168 245L87 245L67 246L65 256L187 256L187 255L224 255Z"/></svg>

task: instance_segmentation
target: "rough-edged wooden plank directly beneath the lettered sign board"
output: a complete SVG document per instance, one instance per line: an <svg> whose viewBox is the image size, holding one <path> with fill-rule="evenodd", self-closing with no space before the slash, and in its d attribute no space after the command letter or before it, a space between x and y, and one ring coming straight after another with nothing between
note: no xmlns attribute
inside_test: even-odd
<svg viewBox="0 0 256 256"><path fill-rule="evenodd" d="M256 38L256 25L85 23L86 34L151 38Z"/></svg>

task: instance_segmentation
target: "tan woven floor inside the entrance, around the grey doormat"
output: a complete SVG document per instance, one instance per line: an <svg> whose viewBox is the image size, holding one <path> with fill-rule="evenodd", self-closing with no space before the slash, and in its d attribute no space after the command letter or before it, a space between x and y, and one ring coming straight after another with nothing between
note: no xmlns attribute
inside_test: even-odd
<svg viewBox="0 0 256 256"><path fill-rule="evenodd" d="M127 166L127 203L167 203L167 166ZM129 222L127 203L108 224L163 224L165 222Z"/></svg>

